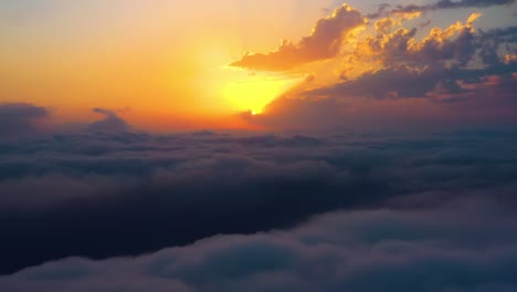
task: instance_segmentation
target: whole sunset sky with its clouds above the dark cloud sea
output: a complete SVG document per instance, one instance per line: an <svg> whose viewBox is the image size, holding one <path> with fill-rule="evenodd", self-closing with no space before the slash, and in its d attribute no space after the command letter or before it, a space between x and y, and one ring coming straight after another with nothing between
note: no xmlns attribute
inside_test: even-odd
<svg viewBox="0 0 517 292"><path fill-rule="evenodd" d="M401 1L376 13L381 3L3 0L0 102L49 108L60 125L101 107L162 132L515 122L515 103L487 96L500 87L488 83L515 84L515 32L496 35L515 27L514 1ZM398 81L380 76L393 70ZM436 80L442 71L458 72ZM407 94L414 72L428 84Z"/></svg>

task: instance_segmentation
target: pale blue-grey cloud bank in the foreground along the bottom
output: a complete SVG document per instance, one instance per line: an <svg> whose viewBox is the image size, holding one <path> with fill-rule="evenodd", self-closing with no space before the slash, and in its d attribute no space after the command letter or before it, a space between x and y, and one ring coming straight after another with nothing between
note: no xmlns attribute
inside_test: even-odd
<svg viewBox="0 0 517 292"><path fill-rule="evenodd" d="M6 291L476 291L517 288L515 213L483 201L319 216L137 258L70 258L0 278ZM477 208L475 211L465 208Z"/></svg>

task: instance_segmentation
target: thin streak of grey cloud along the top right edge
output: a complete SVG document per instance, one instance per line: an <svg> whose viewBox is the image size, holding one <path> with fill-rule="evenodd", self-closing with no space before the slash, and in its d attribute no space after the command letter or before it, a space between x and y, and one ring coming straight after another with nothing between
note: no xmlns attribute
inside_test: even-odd
<svg viewBox="0 0 517 292"><path fill-rule="evenodd" d="M390 6L390 4L381 4L379 6L379 10L376 13L368 14L368 18L376 19L380 17L387 17L397 13L407 13L407 12L428 12L428 11L435 11L435 10L444 10L444 9L460 9L460 8L488 8L495 6L510 6L515 3L515 0L440 0L432 4L425 6L418 6L418 4L410 4L410 6Z"/></svg>

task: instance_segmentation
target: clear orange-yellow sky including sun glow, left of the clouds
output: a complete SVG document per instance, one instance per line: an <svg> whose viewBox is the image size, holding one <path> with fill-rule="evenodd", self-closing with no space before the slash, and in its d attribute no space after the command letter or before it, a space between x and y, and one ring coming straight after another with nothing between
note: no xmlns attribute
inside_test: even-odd
<svg viewBox="0 0 517 292"><path fill-rule="evenodd" d="M0 102L48 106L64 121L94 118L87 108L102 106L129 107L124 115L147 126L156 116L159 124L228 125L228 116L261 111L298 77L224 66L302 35L321 17L320 3L297 8L294 0L274 9L273 1L77 2L11 8L21 15L0 23L10 40L0 52ZM295 12L303 21L286 18Z"/></svg>

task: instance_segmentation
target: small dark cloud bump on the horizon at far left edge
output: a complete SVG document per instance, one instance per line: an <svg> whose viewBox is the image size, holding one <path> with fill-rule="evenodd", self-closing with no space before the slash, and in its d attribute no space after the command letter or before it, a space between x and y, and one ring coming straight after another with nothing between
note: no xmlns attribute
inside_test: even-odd
<svg viewBox="0 0 517 292"><path fill-rule="evenodd" d="M0 135L15 136L36 132L49 111L25 103L0 104Z"/></svg>

